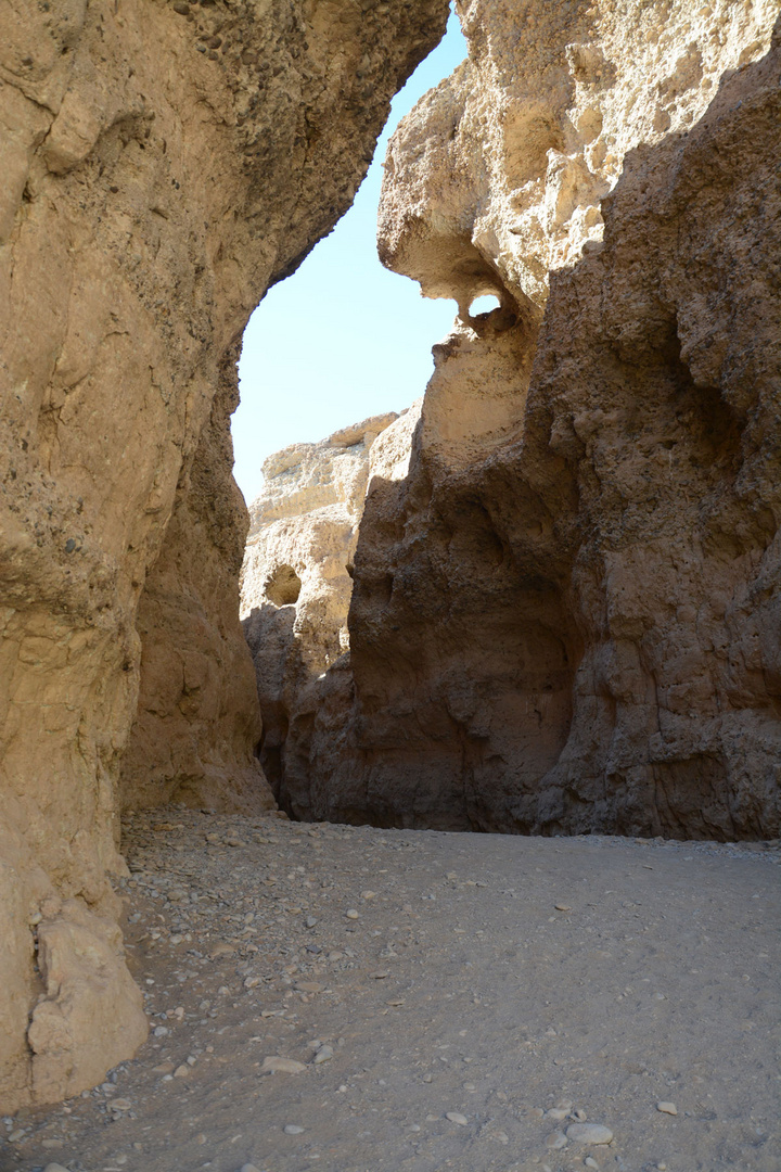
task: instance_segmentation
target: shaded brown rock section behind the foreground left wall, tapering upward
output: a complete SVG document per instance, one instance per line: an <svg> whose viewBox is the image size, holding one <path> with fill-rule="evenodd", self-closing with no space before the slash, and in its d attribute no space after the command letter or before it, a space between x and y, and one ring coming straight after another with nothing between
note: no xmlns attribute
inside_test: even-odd
<svg viewBox="0 0 781 1172"><path fill-rule="evenodd" d="M138 711L121 772L125 809L173 800L244 812L273 806L254 752L262 725L252 661L237 639L247 509L229 473L234 372L228 352L141 597Z"/></svg>

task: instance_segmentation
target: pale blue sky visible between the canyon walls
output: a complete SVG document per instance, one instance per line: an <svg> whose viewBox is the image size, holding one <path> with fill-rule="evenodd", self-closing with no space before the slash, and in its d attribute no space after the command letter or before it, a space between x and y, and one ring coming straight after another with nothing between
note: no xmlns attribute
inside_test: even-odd
<svg viewBox="0 0 781 1172"><path fill-rule="evenodd" d="M451 15L441 43L393 100L352 207L249 319L232 429L233 472L247 503L258 496L261 465L273 451L323 440L369 415L403 410L425 389L431 347L448 333L455 305L425 300L415 281L379 264L382 161L399 118L465 56Z"/></svg>

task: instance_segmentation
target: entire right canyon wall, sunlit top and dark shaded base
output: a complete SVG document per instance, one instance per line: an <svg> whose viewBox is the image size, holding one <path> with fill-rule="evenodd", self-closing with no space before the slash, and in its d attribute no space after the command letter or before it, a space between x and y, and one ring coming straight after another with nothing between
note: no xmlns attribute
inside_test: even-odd
<svg viewBox="0 0 781 1172"><path fill-rule="evenodd" d="M296 809L775 836L777 6L458 8L379 248L460 321L368 495Z"/></svg>

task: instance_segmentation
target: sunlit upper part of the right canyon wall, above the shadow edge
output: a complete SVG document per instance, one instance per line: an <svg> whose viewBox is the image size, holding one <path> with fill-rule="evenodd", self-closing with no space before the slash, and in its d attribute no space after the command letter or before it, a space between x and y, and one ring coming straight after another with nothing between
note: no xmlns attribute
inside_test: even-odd
<svg viewBox="0 0 781 1172"><path fill-rule="evenodd" d="M686 132L767 52L760 4L457 5L470 57L393 136L379 253L429 297L495 293L539 320L549 274L603 233L626 155Z"/></svg>

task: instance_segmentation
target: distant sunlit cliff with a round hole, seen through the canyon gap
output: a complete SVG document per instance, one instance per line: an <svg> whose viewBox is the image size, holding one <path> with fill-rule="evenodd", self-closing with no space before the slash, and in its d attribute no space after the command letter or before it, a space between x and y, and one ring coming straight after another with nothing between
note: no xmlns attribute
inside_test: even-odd
<svg viewBox="0 0 781 1172"><path fill-rule="evenodd" d="M286 745L311 729L320 680L349 649L352 560L366 489L378 478L406 476L419 417L420 401L400 416L374 416L322 443L294 444L263 464L266 488L249 510L241 614L262 713L260 761L289 810L299 786Z"/></svg>

